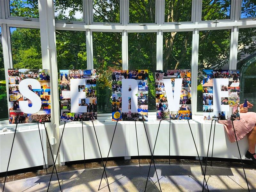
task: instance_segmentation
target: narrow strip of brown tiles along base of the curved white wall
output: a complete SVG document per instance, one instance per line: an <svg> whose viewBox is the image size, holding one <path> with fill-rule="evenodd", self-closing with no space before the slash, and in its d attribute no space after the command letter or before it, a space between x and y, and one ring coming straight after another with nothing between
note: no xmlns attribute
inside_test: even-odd
<svg viewBox="0 0 256 192"><path fill-rule="evenodd" d="M205 161L201 161L201 162L203 165L205 165ZM169 159L155 159L155 163L156 164L169 164ZM121 166L121 165L138 165L138 164L139 164L138 159L115 160L115 161L108 161L107 167ZM140 164L150 164L150 159L140 159ZM187 159L171 159L170 164L172 164L172 165L200 165L198 160L187 160ZM211 165L211 162L208 161L207 166L210 166L210 165ZM86 163L85 166L86 166L86 169L103 167L102 162ZM221 162L221 161L212 161L212 166L228 167L228 168L242 168L241 163ZM26 172L26 173L10 175L6 178L6 182L51 174L53 167L54 166L50 166L47 169L48 172L46 172L46 170L43 169L43 170L37 170L37 171L33 171L33 172ZM68 172L68 171L84 169L84 164L72 164L72 165L62 165L62 166L60 164L57 164L56 168L57 168L58 172ZM250 170L256 170L256 164L252 164L250 162L248 164L244 164L244 168L250 169ZM3 183L3 182L4 182L4 177L0 177L0 183Z"/></svg>

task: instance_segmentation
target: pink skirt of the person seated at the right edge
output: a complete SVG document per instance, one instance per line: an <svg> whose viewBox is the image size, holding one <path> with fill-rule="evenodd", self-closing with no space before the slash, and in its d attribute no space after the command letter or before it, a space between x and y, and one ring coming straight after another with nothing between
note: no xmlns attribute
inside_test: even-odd
<svg viewBox="0 0 256 192"><path fill-rule="evenodd" d="M256 124L256 113L240 113L240 120L233 122L236 131L236 137L234 134L232 122L230 120L219 120L219 123L224 124L224 127L228 133L228 138L231 143L233 143L236 141L236 138L237 140L243 139L245 135L252 131Z"/></svg>

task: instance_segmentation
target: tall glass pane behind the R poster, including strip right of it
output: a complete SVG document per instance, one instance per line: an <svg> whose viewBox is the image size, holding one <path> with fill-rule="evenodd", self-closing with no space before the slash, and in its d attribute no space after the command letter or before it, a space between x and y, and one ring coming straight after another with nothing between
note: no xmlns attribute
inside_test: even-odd
<svg viewBox="0 0 256 192"><path fill-rule="evenodd" d="M156 33L128 33L128 60L129 70L148 69L148 110L155 112Z"/></svg>

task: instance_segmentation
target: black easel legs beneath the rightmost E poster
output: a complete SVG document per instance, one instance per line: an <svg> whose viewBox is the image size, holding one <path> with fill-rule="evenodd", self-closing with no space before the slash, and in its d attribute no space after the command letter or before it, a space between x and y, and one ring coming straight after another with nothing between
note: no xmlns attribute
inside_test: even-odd
<svg viewBox="0 0 256 192"><path fill-rule="evenodd" d="M213 121L213 120L212 120L212 121ZM214 133L213 133L213 141L212 141L212 153L213 153L213 144L214 144L214 134L215 134L215 124L216 124L216 120L214 120L214 121L215 121L215 122L214 122ZM233 130L234 130L234 134L235 134L235 138L236 138L236 131L235 131L234 123L233 123L234 120L231 120L231 121L232 121ZM209 152L211 134L212 134L212 123L211 123L211 130L210 130L209 143L208 143L207 156L206 156L206 163L205 163L205 170L204 170L204 180L205 180L206 166L207 166L207 161L208 161L208 152ZM236 138L236 145L237 145L237 148L238 148L239 156L240 156L241 163L242 163L242 167L243 167L243 170L244 170L244 164L243 164L243 160L242 160L242 157L241 157L240 149L239 149L239 146L238 146L237 138ZM211 161L211 166L212 166L212 161ZM244 176L245 176L245 180L246 180L246 184L247 184L248 191L250 192L250 189L249 189L249 185L248 185L248 181L247 181L247 178L246 178L245 171L244 171ZM203 190L202 190L202 192L203 192L203 191L204 191L204 185L203 185Z"/></svg>

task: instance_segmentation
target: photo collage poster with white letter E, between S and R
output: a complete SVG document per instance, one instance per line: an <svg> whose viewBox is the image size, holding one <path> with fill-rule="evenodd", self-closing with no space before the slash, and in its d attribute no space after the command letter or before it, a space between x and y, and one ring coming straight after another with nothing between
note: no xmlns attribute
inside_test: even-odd
<svg viewBox="0 0 256 192"><path fill-rule="evenodd" d="M97 91L96 91L96 70L95 69L72 69L60 70L60 122L92 121L97 119ZM83 106L85 110L72 112L71 110L71 87L72 79L85 79L86 84L72 87L76 94L74 101L78 100L77 106ZM72 90L73 91L73 90ZM80 92L83 92L80 94ZM79 95L79 96L78 96ZM78 96L79 98L77 98ZM73 110L74 111L74 110Z"/></svg>

